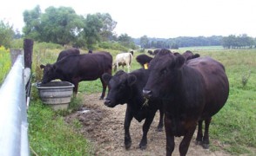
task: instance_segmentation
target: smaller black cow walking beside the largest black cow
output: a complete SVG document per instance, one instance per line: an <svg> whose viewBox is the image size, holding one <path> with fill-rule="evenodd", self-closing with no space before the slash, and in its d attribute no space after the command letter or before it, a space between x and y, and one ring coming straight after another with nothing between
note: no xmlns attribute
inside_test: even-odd
<svg viewBox="0 0 256 156"><path fill-rule="evenodd" d="M104 105L107 107L115 107L118 104L127 103L125 113L125 148L131 146L130 125L132 118L139 122L145 120L143 125L143 137L139 143L140 149L145 149L147 144L147 133L152 124L152 120L159 109L160 120L158 123L158 131L163 128L163 110L161 101L153 99L145 101L142 90L148 79L149 72L147 69L140 68L127 74L123 70L119 70L116 75L111 76L104 74L104 81L110 87L109 93L105 98Z"/></svg>

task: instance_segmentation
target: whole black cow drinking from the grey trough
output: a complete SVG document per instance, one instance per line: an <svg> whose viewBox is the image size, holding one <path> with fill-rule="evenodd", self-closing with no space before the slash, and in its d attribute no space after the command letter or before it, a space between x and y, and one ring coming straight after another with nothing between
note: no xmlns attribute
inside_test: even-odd
<svg viewBox="0 0 256 156"><path fill-rule="evenodd" d="M41 65L40 68L44 68L43 83L55 79L70 81L75 85L74 94L77 94L79 81L94 81L100 78L103 87L100 99L103 99L107 85L102 75L104 73L111 75L112 55L108 52L68 55L53 64Z"/></svg>

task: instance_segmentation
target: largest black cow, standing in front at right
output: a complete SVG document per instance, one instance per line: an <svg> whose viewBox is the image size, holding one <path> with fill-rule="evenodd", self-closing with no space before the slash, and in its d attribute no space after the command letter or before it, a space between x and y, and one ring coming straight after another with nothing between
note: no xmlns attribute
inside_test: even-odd
<svg viewBox="0 0 256 156"><path fill-rule="evenodd" d="M197 123L199 130L196 140L207 148L212 116L225 105L229 94L224 66L210 57L199 57L185 63L183 55L170 53L153 58L149 70L143 92L147 98L160 98L163 101L166 155L173 152L174 136L184 136L179 153L187 153Z"/></svg>

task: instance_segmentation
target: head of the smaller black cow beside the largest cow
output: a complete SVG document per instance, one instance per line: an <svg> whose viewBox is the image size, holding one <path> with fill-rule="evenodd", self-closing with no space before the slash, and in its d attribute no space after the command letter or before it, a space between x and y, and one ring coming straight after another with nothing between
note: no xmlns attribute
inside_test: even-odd
<svg viewBox="0 0 256 156"><path fill-rule="evenodd" d="M105 106L115 107L118 104L125 104L131 99L131 86L137 80L135 75L119 70L114 76L104 73L102 77L110 88L104 101Z"/></svg>

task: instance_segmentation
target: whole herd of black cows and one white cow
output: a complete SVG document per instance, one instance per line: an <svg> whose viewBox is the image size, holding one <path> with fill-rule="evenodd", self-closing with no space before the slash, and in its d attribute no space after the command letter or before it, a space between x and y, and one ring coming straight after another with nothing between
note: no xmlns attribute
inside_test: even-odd
<svg viewBox="0 0 256 156"><path fill-rule="evenodd" d="M69 51L69 50L68 50ZM109 52L79 54L77 49L61 52L62 58L53 64L41 65L44 69L43 83L60 79L75 85L77 94L79 81L100 79L106 107L127 104L125 112L125 148L131 147L130 125L135 118L145 120L140 149L147 145L147 133L159 110L158 131L165 125L166 155L172 155L174 137L184 136L179 145L180 155L185 155L198 127L197 143L209 147L209 126L212 116L225 105L229 94L229 82L225 67L209 56L202 57L186 51L172 53L158 49L149 55L138 55L142 66L131 71L131 53L120 53L112 60ZM59 57L60 57L59 55ZM128 72L118 70L112 75L112 68L126 65ZM203 130L203 122L205 122ZM204 131L204 132L203 132Z"/></svg>

